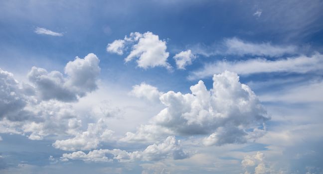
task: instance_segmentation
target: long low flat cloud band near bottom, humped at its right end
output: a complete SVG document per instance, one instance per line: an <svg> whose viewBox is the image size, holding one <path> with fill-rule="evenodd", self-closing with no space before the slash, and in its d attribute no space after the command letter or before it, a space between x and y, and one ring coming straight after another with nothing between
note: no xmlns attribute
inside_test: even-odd
<svg viewBox="0 0 323 174"><path fill-rule="evenodd" d="M148 146L144 151L127 152L120 149L100 149L90 151L88 154L78 151L70 154L63 154L62 161L83 160L87 162L130 162L130 161L160 161L167 158L174 160L188 158L175 137L167 137L161 144Z"/></svg>

